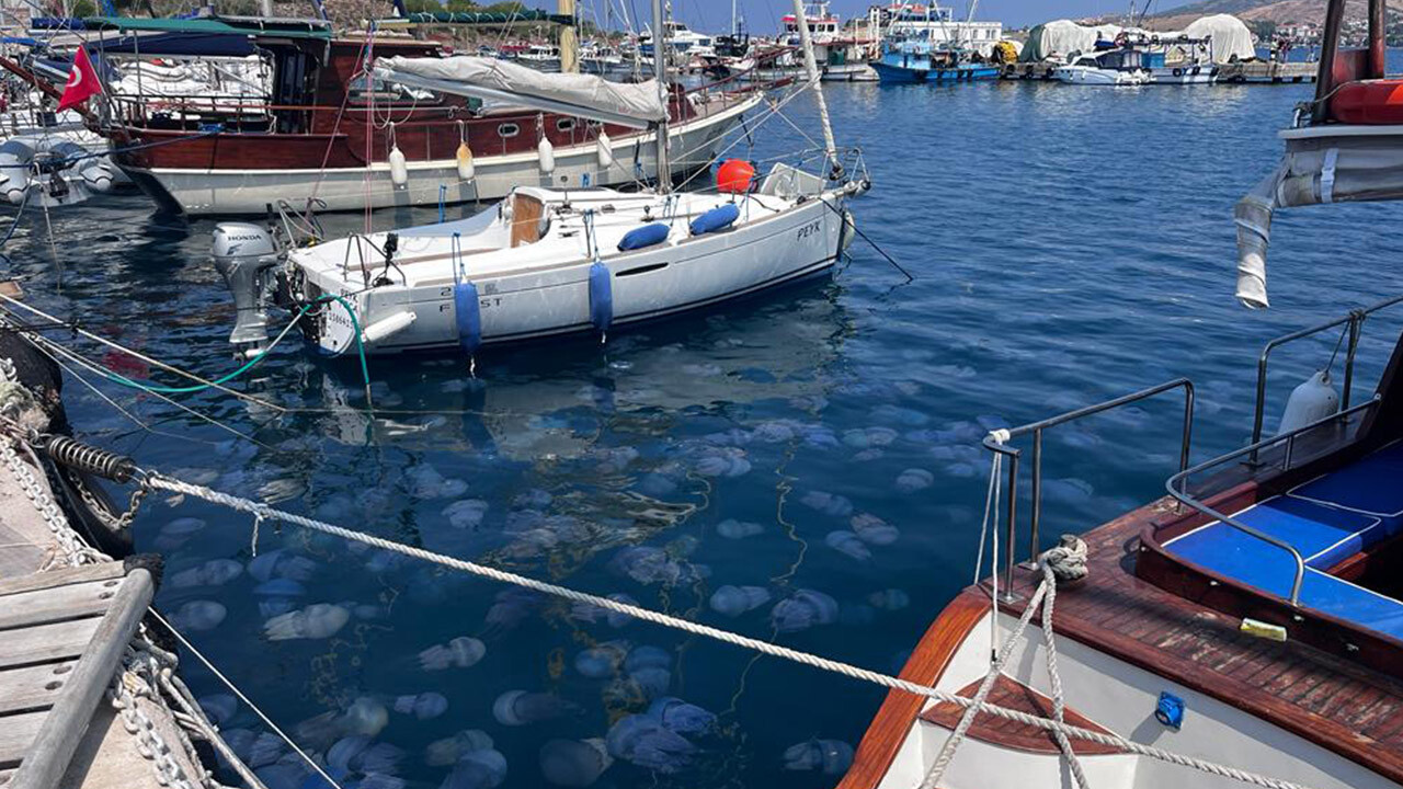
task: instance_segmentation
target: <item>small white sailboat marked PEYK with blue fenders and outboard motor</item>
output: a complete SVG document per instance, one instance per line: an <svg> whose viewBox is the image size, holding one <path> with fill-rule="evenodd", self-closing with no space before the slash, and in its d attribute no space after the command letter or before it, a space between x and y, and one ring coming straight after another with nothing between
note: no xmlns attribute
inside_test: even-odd
<svg viewBox="0 0 1403 789"><path fill-rule="evenodd" d="M661 14L659 14L661 17ZM657 21L657 20L655 20ZM665 48L655 55L665 74ZM818 70L810 62L810 84ZM511 86L476 58L389 58L387 81L463 95L512 90L526 105L657 128L666 161L661 80L607 83L542 76ZM518 187L457 222L303 243L246 223L215 232L215 263L234 295L230 341L260 350L268 307L282 306L324 352L391 354L595 331L704 307L831 271L852 239L846 201L867 190L860 153L832 143L825 118L819 174L777 163L758 180L730 160L716 192ZM292 223L289 223L290 226ZM310 314L307 314L310 313Z"/></svg>

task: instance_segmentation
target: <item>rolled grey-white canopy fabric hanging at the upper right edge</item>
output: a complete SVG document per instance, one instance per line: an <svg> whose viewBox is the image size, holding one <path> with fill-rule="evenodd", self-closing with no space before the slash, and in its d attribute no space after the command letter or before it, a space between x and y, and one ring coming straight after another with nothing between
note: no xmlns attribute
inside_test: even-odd
<svg viewBox="0 0 1403 789"><path fill-rule="evenodd" d="M1278 208L1330 202L1403 199L1403 129L1326 126L1281 132L1287 154L1256 188L1237 201L1237 300L1264 309L1267 244Z"/></svg>

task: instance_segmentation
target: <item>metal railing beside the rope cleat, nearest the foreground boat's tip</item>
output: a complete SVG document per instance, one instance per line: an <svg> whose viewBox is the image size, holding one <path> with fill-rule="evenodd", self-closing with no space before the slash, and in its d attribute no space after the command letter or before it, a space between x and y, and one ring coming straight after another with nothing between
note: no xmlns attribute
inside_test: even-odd
<svg viewBox="0 0 1403 789"><path fill-rule="evenodd" d="M1047 418L1047 420L1042 420L1042 421L1035 421L1035 423L1030 423L1030 424L1026 424L1026 425L1014 427L1014 428L1010 428L1007 431L1009 432L1009 435L1007 435L1009 441L1012 441L1014 438L1019 438L1021 435L1027 435L1030 432L1033 434L1033 456L1031 456L1031 463L1033 463L1033 504L1031 504L1031 508L1033 508L1033 514L1031 514L1030 529L1028 529L1028 557L1027 557L1027 562L1033 562L1037 557L1038 549L1040 549L1040 543L1038 543L1038 526L1041 525L1041 521L1042 521L1042 432L1045 430L1056 427L1059 424L1066 424L1069 421L1076 421L1076 420L1080 420L1080 418L1085 418L1085 417L1089 417L1089 416L1093 416L1093 414L1100 414L1100 413L1104 413L1104 411L1110 411L1113 409L1118 409L1121 406L1128 406L1131 403L1136 403L1139 400L1145 400L1145 399L1149 399L1149 397L1153 397L1156 394L1162 394L1164 392L1170 392L1170 390L1174 390L1174 389L1183 389L1184 390L1184 427L1183 427L1183 432L1181 432L1181 437L1180 437L1180 445L1179 445L1179 470L1180 470L1180 473L1183 473L1186 469L1188 469L1188 451L1190 451L1190 442L1193 441L1193 431L1194 431L1194 382L1188 380L1187 378L1177 378L1174 380L1167 380L1164 383L1160 383L1159 386L1150 386L1149 389L1141 389L1139 392L1132 392L1129 394L1124 394L1121 397L1115 397L1114 400L1106 400L1104 403L1097 403L1094 406L1087 406L1085 409L1078 409L1075 411L1068 411L1065 414L1059 414L1059 416L1055 416L1055 417L1051 417L1051 418ZM1007 500L1007 504L1009 504L1009 521L1007 521L1007 525L1006 525L1009 555L1007 555L1007 563L1006 563L1006 566L1003 569L1003 588L1005 590L1012 590L1013 588L1013 570L1019 564L1017 550L1014 550L1013 545L1014 545L1014 539L1017 538L1017 522L1019 522L1019 459L1021 458L1023 451L1019 449L1019 448L1016 448L1016 446L1010 446L1007 444L1007 441L1000 442L1000 441L995 439L995 437L992 437L992 435L986 437L984 439L984 446L986 449L989 449L991 452L1003 455L1005 458L1009 459L1009 500ZM995 524L995 528L998 528L998 524ZM995 567L993 571L998 573L999 569ZM1006 591L1005 595L1012 598L1012 592L1010 591Z"/></svg>

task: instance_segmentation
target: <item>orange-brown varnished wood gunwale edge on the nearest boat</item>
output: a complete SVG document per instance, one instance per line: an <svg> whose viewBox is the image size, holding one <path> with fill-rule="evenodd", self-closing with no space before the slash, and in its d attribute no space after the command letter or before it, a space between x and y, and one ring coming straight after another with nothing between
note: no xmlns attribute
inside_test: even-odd
<svg viewBox="0 0 1403 789"><path fill-rule="evenodd" d="M940 679L954 658L960 644L965 642L975 625L989 612L989 595L978 587L960 592L950 605L932 622L922 636L916 650L901 670L901 678L922 685ZM911 727L925 706L925 696L904 691L888 691L885 701L873 717L871 726L863 734L853 767L847 769L838 789L873 789L897 758L897 751L906 741Z"/></svg>

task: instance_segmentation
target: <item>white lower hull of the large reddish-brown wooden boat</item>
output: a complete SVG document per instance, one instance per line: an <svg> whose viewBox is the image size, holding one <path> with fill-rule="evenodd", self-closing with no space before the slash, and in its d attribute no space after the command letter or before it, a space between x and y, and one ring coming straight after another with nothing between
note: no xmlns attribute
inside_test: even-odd
<svg viewBox="0 0 1403 789"><path fill-rule="evenodd" d="M759 102L760 97L756 95L713 115L675 126L669 143L673 175L709 164L721 150L725 132L745 111ZM384 161L369 168L325 171L129 168L129 173L143 183L143 188L156 192L157 199L173 204L184 213L234 215L264 213L268 205L276 205L283 199L300 208L310 197L323 201L325 211L438 205L439 201L491 201L506 197L516 187L616 187L634 184L637 178L651 178L657 171L657 152L651 139L641 140L641 145L633 139L615 140L612 150L613 164L600 168L595 142L557 147L556 168L549 175L540 170L540 160L535 152L477 156L471 181L459 178L455 159L410 161L410 180L403 188L396 188L390 181L390 166Z"/></svg>

